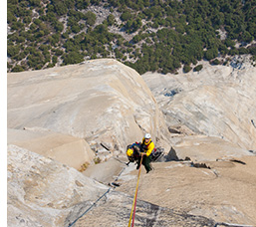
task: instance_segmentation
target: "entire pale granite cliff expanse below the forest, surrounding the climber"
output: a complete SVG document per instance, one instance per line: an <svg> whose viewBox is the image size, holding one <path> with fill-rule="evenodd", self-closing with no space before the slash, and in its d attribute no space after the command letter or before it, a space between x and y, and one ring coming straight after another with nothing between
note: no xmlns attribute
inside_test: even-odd
<svg viewBox="0 0 256 227"><path fill-rule="evenodd" d="M135 226L255 226L256 74L203 69L141 78L97 60L8 74L8 226L128 226L124 151L144 131L172 161L142 168Z"/></svg>

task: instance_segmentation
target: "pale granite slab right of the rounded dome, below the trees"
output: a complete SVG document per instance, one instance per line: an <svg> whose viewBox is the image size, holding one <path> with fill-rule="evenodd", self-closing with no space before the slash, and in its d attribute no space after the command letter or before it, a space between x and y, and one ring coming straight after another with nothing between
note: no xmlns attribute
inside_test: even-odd
<svg viewBox="0 0 256 227"><path fill-rule="evenodd" d="M217 136L248 150L256 149L256 68L244 57L240 67L204 66L178 75L146 73L169 126Z"/></svg>

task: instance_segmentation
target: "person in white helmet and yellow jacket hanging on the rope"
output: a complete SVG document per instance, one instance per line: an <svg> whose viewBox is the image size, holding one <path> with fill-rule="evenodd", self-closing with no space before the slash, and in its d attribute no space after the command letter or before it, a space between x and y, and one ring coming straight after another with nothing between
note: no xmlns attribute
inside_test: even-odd
<svg viewBox="0 0 256 227"><path fill-rule="evenodd" d="M151 140L151 135L149 133L145 133L142 142L140 143L140 156L137 160L136 169L139 168L140 160L142 158L142 165L144 166L146 173L148 173L152 168L150 165L151 157L150 154L154 148L153 141Z"/></svg>

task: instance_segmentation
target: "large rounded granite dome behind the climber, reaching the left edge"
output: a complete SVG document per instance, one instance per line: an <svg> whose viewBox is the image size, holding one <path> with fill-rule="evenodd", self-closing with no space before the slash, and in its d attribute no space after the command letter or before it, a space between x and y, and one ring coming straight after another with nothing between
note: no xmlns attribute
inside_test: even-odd
<svg viewBox="0 0 256 227"><path fill-rule="evenodd" d="M8 74L8 127L83 138L102 159L146 131L159 142L167 131L143 79L111 59Z"/></svg>

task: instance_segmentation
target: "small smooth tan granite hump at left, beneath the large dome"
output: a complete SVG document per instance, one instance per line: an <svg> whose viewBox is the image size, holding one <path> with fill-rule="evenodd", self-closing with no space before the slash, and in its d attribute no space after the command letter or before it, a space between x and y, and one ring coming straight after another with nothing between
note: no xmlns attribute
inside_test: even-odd
<svg viewBox="0 0 256 227"><path fill-rule="evenodd" d="M81 169L94 164L95 153L83 138L56 133L42 128L8 128L8 143L53 158L70 167Z"/></svg>

